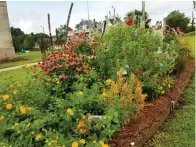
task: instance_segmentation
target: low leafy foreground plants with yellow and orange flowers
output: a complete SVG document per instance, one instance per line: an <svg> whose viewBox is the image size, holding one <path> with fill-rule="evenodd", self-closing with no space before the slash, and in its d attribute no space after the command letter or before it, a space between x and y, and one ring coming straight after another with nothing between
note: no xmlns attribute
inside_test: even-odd
<svg viewBox="0 0 196 147"><path fill-rule="evenodd" d="M91 89L86 88L83 76L79 77L81 80L74 85L76 91L67 99L50 96L37 80L4 85L10 88L0 91L1 145L108 146L106 142L130 119L129 114L143 107L145 95L140 83L132 75L127 85L122 70L118 81L111 81L111 85L94 83ZM122 98L113 93L116 86L123 86L118 89ZM108 96L114 96L112 105L107 103L109 97L103 87Z"/></svg>

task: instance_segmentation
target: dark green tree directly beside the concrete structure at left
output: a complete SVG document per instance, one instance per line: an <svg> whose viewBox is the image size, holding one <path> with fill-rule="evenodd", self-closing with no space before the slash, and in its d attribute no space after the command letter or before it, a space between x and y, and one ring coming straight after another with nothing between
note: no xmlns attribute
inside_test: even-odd
<svg viewBox="0 0 196 147"><path fill-rule="evenodd" d="M14 49L16 52L20 52L24 47L25 33L20 28L11 27L11 34Z"/></svg>

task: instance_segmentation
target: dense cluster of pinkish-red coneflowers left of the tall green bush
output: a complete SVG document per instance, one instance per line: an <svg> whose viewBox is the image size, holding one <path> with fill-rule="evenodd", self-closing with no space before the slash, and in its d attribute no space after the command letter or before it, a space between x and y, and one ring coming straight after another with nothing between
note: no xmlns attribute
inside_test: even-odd
<svg viewBox="0 0 196 147"><path fill-rule="evenodd" d="M77 55L73 50L66 49L64 51L50 54L47 60L43 60L38 67L45 74L56 73L59 78L67 79L69 74L88 73L89 66L83 61L82 55Z"/></svg>

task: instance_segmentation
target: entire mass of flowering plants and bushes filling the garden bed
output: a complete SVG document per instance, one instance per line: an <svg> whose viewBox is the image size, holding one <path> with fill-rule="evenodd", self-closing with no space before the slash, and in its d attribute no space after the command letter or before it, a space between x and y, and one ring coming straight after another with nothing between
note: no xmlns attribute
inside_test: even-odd
<svg viewBox="0 0 196 147"><path fill-rule="evenodd" d="M145 101L171 88L180 51L134 25L102 39L73 36L65 50L27 69L35 79L2 86L2 146L108 147Z"/></svg>

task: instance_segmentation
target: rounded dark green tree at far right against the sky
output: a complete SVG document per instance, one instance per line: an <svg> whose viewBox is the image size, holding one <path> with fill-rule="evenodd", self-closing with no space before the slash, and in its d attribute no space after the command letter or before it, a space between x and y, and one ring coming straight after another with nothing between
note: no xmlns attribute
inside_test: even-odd
<svg viewBox="0 0 196 147"><path fill-rule="evenodd" d="M190 19L178 10L172 11L166 17L166 24L171 28L180 27L182 30L186 30L189 22Z"/></svg>

